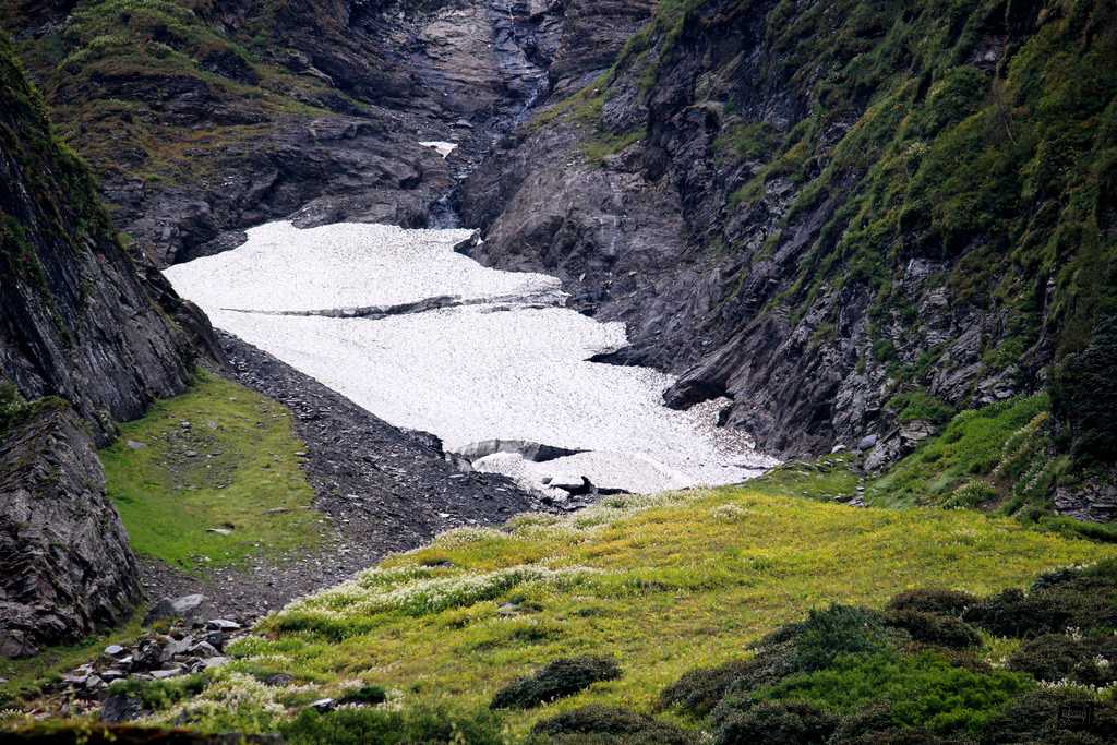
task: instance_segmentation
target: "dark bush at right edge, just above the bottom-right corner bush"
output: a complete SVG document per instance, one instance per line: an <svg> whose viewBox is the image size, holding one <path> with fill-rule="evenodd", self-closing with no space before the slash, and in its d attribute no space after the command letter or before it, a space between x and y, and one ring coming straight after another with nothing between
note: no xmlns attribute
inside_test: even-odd
<svg viewBox="0 0 1117 745"><path fill-rule="evenodd" d="M1117 637L1043 634L1021 646L1009 658L1009 669L1039 680L1106 686L1117 680Z"/></svg>

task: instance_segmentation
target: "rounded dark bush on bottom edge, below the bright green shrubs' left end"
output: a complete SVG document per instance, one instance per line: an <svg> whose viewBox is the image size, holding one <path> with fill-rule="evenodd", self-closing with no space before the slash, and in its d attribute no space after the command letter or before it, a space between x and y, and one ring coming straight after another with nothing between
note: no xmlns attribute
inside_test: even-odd
<svg viewBox="0 0 1117 745"><path fill-rule="evenodd" d="M718 727L718 745L825 745L838 718L802 701L762 701Z"/></svg>

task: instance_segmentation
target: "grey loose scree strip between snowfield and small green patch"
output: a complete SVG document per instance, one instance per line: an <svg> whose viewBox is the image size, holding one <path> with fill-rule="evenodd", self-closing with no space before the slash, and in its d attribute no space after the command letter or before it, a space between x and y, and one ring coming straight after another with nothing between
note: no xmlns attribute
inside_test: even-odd
<svg viewBox="0 0 1117 745"><path fill-rule="evenodd" d="M437 438L394 428L271 355L218 335L228 374L294 414L295 434L306 443L303 469L315 491L314 508L328 524L330 537L317 552L256 558L206 579L141 557L149 598L202 594L214 617L255 619L442 531L581 504L547 504L504 477L462 472Z"/></svg>

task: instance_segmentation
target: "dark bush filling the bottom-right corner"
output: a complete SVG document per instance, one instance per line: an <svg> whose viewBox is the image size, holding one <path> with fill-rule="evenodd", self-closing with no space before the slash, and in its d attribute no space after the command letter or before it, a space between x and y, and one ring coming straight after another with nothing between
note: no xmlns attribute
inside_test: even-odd
<svg viewBox="0 0 1117 745"><path fill-rule="evenodd" d="M983 745L1117 742L1117 703L1071 689L1041 689L1013 700L991 719Z"/></svg>

